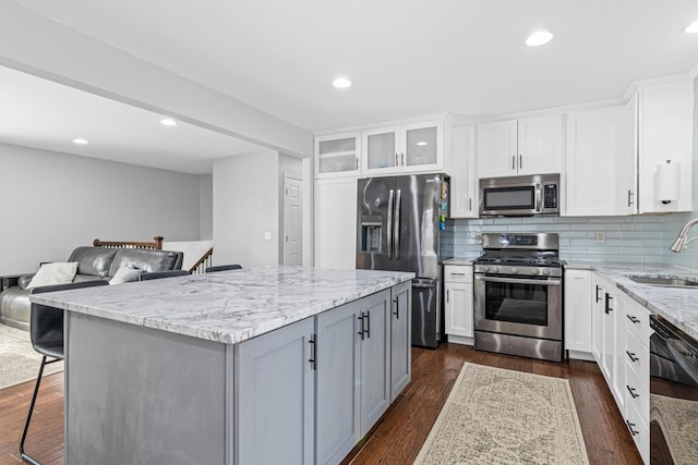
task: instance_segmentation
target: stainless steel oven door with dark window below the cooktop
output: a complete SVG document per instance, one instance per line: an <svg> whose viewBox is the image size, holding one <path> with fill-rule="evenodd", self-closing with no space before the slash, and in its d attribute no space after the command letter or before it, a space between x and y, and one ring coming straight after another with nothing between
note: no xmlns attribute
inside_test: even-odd
<svg viewBox="0 0 698 465"><path fill-rule="evenodd" d="M559 278L474 274L474 329L562 341Z"/></svg>

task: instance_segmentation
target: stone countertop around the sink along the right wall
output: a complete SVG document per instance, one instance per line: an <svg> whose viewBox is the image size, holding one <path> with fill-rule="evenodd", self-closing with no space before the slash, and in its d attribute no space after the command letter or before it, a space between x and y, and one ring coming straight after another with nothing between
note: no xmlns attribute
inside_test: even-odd
<svg viewBox="0 0 698 465"><path fill-rule="evenodd" d="M583 262L567 264L565 269L592 270L613 282L619 290L669 322L698 340L698 287L663 287L640 284L628 276L682 278L696 280L698 273L662 264Z"/></svg>

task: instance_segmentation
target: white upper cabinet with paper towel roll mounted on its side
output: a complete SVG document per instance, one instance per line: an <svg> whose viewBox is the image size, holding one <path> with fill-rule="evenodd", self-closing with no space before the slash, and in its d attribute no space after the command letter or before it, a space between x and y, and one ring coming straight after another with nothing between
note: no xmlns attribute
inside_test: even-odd
<svg viewBox="0 0 698 465"><path fill-rule="evenodd" d="M683 78L641 85L638 96L638 211L691 211L694 81ZM659 166L671 160L677 176L663 178ZM663 185L660 185L663 184ZM677 187L677 199L662 203L660 194Z"/></svg>

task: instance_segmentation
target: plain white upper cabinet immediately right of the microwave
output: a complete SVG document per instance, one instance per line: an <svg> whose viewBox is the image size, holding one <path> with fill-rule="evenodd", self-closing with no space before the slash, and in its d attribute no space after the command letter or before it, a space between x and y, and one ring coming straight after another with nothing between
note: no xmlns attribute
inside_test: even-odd
<svg viewBox="0 0 698 465"><path fill-rule="evenodd" d="M634 212L635 156L625 144L626 113L618 106L567 114L563 216Z"/></svg>

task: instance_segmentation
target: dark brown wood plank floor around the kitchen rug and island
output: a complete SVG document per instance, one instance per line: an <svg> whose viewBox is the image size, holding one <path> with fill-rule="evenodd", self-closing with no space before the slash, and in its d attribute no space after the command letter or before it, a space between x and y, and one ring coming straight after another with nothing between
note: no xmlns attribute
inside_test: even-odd
<svg viewBox="0 0 698 465"><path fill-rule="evenodd" d="M641 464L633 439L593 363L563 364L476 352L442 344L412 348L412 382L345 462L410 464L436 420L465 362L569 379L591 464ZM17 464L19 443L34 382L0 390L0 465ZM46 465L62 464L63 382L51 375L41 383L26 451Z"/></svg>

